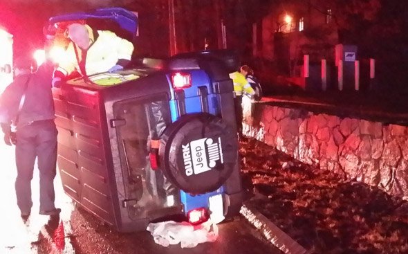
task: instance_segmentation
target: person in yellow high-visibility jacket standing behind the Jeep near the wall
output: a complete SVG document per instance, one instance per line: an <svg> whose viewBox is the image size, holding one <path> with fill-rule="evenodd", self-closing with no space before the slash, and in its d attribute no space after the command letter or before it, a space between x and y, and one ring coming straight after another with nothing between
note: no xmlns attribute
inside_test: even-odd
<svg viewBox="0 0 408 254"><path fill-rule="evenodd" d="M239 136L242 135L242 96L247 94L250 98L255 94L254 89L246 80L245 76L242 75L239 71L230 73L230 78L234 82L234 107L235 107L235 116L237 118L237 129Z"/></svg>

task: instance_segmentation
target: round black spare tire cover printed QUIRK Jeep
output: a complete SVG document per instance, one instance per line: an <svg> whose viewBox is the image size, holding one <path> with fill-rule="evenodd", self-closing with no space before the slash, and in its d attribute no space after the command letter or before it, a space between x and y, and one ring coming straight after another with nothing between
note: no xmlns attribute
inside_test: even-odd
<svg viewBox="0 0 408 254"><path fill-rule="evenodd" d="M237 132L207 113L181 116L160 140L160 168L181 190L211 192L223 185L237 165Z"/></svg>

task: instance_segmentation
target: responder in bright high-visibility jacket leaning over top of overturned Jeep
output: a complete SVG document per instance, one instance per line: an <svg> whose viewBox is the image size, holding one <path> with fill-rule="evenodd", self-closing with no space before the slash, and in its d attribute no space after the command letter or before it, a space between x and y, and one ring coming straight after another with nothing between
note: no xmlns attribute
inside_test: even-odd
<svg viewBox="0 0 408 254"><path fill-rule="evenodd" d="M71 43L54 73L53 85L75 69L84 77L122 70L131 60L133 44L109 30L93 30L84 24L68 26Z"/></svg>

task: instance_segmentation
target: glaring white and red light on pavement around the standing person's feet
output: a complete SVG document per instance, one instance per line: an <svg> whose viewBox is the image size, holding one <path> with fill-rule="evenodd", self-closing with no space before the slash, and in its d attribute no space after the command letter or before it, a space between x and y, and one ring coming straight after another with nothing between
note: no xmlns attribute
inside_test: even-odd
<svg viewBox="0 0 408 254"><path fill-rule="evenodd" d="M1 136L1 135L0 135ZM2 136L1 136L2 138ZM3 141L3 140L1 140ZM0 253L75 253L71 240L70 218L74 209L62 190L59 174L55 177L55 206L62 208L60 218L49 221L39 215L39 174L37 165L32 181L33 208L26 222L20 217L15 197L15 147L0 142Z"/></svg>

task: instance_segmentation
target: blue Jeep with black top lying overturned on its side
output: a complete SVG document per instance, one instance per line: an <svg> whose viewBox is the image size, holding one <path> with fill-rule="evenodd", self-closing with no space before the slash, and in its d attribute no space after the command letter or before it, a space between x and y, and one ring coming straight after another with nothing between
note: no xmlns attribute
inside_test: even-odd
<svg viewBox="0 0 408 254"><path fill-rule="evenodd" d="M75 19L129 34L137 26L133 13L110 8L54 17L49 27ZM194 224L237 214L243 190L228 75L236 66L229 51L142 58L54 88L66 194L122 232L173 215Z"/></svg>

